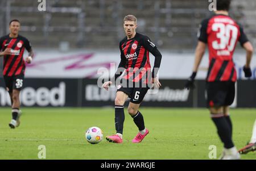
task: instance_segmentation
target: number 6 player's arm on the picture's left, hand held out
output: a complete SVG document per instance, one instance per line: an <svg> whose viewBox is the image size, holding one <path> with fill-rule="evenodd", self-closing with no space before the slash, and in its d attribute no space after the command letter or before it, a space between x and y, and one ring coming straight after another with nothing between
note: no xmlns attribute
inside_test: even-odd
<svg viewBox="0 0 256 171"><path fill-rule="evenodd" d="M126 57L125 54L123 54L121 42L119 44L119 49L121 52L121 61L118 65L117 71L115 72L115 76L113 78L110 78L110 81L104 82L104 84L102 85L102 87L104 87L104 89L106 90L109 90L109 86L112 85L113 82L115 82L115 80L117 80L117 78L120 77L122 73L125 71Z"/></svg>

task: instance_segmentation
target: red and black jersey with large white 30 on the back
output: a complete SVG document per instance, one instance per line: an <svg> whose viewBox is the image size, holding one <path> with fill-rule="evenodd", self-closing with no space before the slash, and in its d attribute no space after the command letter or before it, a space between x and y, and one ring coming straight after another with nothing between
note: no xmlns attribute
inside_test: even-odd
<svg viewBox="0 0 256 171"><path fill-rule="evenodd" d="M237 81L233 53L237 41L249 41L243 28L228 15L213 15L203 20L199 40L208 44L209 69L207 81Z"/></svg>

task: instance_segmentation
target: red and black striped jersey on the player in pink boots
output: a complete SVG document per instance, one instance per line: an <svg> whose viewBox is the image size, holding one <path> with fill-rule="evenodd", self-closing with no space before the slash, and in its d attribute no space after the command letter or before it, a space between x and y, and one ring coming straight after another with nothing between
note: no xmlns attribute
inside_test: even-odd
<svg viewBox="0 0 256 171"><path fill-rule="evenodd" d="M135 37L132 39L127 39L127 37L125 37L120 41L119 49L121 52L121 62L118 68L126 69L126 74L123 78L133 82L139 82L145 76L151 76L151 74L152 77L156 76L160 67L162 55L156 48L155 44L152 43L147 36L136 33ZM149 52L155 56L152 73ZM121 73L115 74L115 79L120 75Z"/></svg>

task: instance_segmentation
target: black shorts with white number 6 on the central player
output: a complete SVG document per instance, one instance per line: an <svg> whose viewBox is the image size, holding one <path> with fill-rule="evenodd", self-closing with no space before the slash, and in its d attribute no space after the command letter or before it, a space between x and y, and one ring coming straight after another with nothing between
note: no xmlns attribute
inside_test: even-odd
<svg viewBox="0 0 256 171"><path fill-rule="evenodd" d="M135 104L140 104L147 94L148 87L123 87L119 86L117 91L122 91L127 94L130 99L130 102Z"/></svg>

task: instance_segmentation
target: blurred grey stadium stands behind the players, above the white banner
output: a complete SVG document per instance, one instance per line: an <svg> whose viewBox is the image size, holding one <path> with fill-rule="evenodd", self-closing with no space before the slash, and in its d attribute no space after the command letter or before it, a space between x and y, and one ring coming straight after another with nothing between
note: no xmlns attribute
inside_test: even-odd
<svg viewBox="0 0 256 171"><path fill-rule="evenodd" d="M47 11L38 11L37 1L13 0L10 16L5 12L3 17L20 19L21 34L36 47L58 47L61 41L67 41L72 48L117 48L124 36L123 16L134 14L138 18L138 32L148 35L160 48L184 50L195 48L201 19L210 15L209 2L205 0L47 2ZM255 8L254 0L234 0L231 12L254 45ZM0 32L6 32L6 28Z"/></svg>

